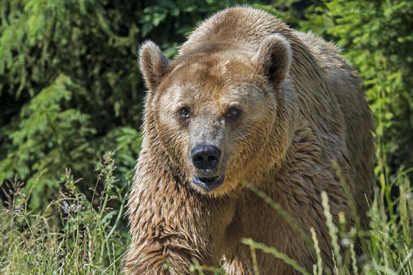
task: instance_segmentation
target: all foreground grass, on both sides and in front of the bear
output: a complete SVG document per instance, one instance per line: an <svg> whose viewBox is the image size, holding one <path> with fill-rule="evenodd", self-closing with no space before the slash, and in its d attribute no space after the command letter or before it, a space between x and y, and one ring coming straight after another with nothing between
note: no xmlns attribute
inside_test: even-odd
<svg viewBox="0 0 413 275"><path fill-rule="evenodd" d="M28 209L31 193L21 192L21 182L15 180L8 186L8 190L4 190L8 196L7 205L0 212L0 274L120 274L130 237L119 228L125 195L121 195L123 190L114 188L115 168L110 154L101 160L90 201L79 191L81 180L74 180L67 170L63 180L67 191L61 194L61 199L52 201L42 214ZM262 250L282 259L301 274L413 275L413 190L407 177L412 170L384 175L385 169L378 169L377 188L368 212L371 229L367 232L356 225L348 231L343 229L346 226L339 226L341 230L332 228L328 196L323 193L324 214L332 239L332 259L336 263L334 271L323 264L316 234L306 239L317 255L311 271L264 243L252 239L243 239L242 243L250 246L254 263L257 262L255 251ZM396 199L390 196L392 186L400 190ZM294 223L271 198L259 190L255 192L286 220ZM111 200L118 200L120 208L109 208ZM339 222L344 225L346 217L339 217ZM362 243L361 256L354 252L357 237ZM339 253L339 244L348 248L346 253ZM224 274L217 267L203 267L197 261L193 262L191 271L194 274L204 274L204 270ZM260 274L257 266L255 274Z"/></svg>

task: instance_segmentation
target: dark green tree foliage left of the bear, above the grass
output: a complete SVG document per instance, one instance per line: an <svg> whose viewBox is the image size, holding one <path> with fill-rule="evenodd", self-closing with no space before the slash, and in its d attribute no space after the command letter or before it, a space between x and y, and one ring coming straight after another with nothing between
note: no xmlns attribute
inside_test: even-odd
<svg viewBox="0 0 413 275"><path fill-rule="evenodd" d="M65 168L94 179L94 162L109 150L121 167L118 184L131 178L142 85L137 23L120 16L139 12L129 5L0 1L0 182L17 175L28 190L41 175L32 210L59 197Z"/></svg>

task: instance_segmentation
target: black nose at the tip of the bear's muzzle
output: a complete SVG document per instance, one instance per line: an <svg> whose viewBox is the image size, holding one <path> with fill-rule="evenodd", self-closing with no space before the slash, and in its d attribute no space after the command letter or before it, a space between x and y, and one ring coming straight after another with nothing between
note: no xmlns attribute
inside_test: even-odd
<svg viewBox="0 0 413 275"><path fill-rule="evenodd" d="M220 162L221 150L213 145L196 145L191 151L191 157L196 168L215 169Z"/></svg>

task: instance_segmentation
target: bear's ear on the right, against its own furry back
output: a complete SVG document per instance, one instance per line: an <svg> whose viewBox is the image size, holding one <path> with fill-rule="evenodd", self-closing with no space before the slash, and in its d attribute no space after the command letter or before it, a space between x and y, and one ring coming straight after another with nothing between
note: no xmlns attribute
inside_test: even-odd
<svg viewBox="0 0 413 275"><path fill-rule="evenodd" d="M259 74L279 87L290 71L292 56L291 45L284 36L271 34L262 41L252 61Z"/></svg>

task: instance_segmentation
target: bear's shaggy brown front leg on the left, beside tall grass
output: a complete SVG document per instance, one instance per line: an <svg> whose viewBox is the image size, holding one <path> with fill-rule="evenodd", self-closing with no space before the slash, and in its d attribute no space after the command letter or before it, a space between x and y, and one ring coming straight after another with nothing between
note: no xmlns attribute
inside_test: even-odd
<svg viewBox="0 0 413 275"><path fill-rule="evenodd" d="M132 240L126 274L190 274L194 258L216 265L211 256L209 238L214 228L209 206L176 178L152 175L160 174L137 173L129 195Z"/></svg>

